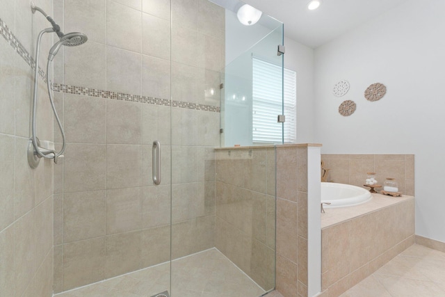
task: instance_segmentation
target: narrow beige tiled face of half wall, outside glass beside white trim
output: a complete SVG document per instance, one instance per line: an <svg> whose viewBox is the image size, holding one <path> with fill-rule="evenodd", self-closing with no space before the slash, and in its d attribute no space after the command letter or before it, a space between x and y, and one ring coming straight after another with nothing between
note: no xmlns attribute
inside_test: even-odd
<svg viewBox="0 0 445 297"><path fill-rule="evenodd" d="M277 147L276 289L307 296L307 146Z"/></svg>

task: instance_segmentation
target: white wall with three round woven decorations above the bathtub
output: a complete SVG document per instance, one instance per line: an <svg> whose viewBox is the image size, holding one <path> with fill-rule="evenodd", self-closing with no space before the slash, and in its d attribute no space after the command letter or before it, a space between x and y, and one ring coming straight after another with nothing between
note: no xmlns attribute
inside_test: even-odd
<svg viewBox="0 0 445 297"><path fill-rule="evenodd" d="M410 0L315 51L315 141L327 154L414 153L416 234L445 241L445 1ZM350 91L332 87L341 79ZM387 95L364 99L371 83ZM338 113L357 103L350 117Z"/></svg>

